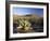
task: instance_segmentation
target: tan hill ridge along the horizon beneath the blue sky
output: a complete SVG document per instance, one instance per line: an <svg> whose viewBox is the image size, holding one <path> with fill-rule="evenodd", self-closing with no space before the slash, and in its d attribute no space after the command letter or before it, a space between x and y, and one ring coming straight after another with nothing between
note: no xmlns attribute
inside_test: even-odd
<svg viewBox="0 0 50 41"><path fill-rule="evenodd" d="M17 19L17 18L26 18L26 19L29 19L29 18L36 18L36 19L38 19L38 18L40 18L40 16L38 16L38 15L36 15L36 14L29 14L29 15L14 15L13 14L13 18L14 19Z"/></svg>

